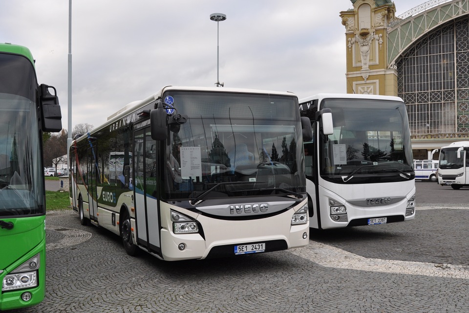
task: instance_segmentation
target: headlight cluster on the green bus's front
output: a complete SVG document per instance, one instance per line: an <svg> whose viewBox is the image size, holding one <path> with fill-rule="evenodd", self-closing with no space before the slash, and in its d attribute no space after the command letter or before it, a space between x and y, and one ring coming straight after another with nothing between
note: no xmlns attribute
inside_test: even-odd
<svg viewBox="0 0 469 313"><path fill-rule="evenodd" d="M27 260L10 274L3 277L1 291L11 291L38 286L38 271L41 254L38 253Z"/></svg>

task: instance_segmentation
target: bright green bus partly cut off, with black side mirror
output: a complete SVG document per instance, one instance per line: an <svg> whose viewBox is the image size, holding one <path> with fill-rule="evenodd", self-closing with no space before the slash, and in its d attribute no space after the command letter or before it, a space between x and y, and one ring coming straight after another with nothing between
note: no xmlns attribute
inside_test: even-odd
<svg viewBox="0 0 469 313"><path fill-rule="evenodd" d="M45 293L42 133L61 131L62 114L34 63L28 48L0 44L0 311Z"/></svg>

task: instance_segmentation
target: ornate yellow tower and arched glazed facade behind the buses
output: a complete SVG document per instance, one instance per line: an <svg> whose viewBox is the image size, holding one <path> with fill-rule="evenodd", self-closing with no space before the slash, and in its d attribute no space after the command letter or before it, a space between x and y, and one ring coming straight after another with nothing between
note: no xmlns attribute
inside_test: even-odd
<svg viewBox="0 0 469 313"><path fill-rule="evenodd" d="M390 0L351 2L340 15L347 92L403 98L414 159L468 140L469 0L430 0L397 17Z"/></svg>

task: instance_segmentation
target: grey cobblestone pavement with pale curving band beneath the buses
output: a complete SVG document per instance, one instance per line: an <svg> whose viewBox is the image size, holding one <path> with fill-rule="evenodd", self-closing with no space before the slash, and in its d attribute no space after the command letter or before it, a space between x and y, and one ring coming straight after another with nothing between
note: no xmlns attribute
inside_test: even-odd
<svg viewBox="0 0 469 313"><path fill-rule="evenodd" d="M469 206L312 232L305 248L225 259L130 257L120 238L47 214L46 298L18 313L468 312Z"/></svg>

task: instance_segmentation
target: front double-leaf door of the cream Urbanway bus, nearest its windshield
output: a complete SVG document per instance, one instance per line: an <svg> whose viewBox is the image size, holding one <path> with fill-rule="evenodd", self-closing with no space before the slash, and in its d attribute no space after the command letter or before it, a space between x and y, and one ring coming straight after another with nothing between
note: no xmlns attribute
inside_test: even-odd
<svg viewBox="0 0 469 313"><path fill-rule="evenodd" d="M150 128L135 132L134 180L137 238L149 251L160 253L160 218L157 201L156 141Z"/></svg>

